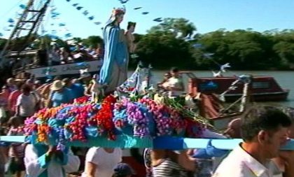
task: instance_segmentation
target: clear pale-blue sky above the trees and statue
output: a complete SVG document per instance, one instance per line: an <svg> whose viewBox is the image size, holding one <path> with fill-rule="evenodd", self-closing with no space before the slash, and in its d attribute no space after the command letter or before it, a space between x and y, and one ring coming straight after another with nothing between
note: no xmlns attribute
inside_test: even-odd
<svg viewBox="0 0 294 177"><path fill-rule="evenodd" d="M28 0L0 0L0 33L8 37L12 29L8 27L8 19L15 19L21 13L20 4ZM45 0L36 0L45 1ZM125 0L124 0L125 1ZM73 3L82 6L81 10L73 7ZM136 33L146 34L148 29L158 24L157 17L184 17L193 22L197 32L204 34L217 29L248 29L266 31L269 29L294 28L293 0L129 0L125 4L127 13L120 25L126 29L127 22L137 22ZM113 8L123 7L119 0L53 0L50 6L60 13L58 19L50 15L44 17L43 27L47 34L56 30L57 36L70 33L72 36L86 38L101 36L103 24L109 19ZM134 8L142 7L139 10ZM89 14L83 15L87 10ZM49 14L50 9L48 10ZM143 12L148 12L143 15ZM87 17L94 16L94 20ZM94 22L102 22L97 25ZM64 23L64 27L58 27Z"/></svg>

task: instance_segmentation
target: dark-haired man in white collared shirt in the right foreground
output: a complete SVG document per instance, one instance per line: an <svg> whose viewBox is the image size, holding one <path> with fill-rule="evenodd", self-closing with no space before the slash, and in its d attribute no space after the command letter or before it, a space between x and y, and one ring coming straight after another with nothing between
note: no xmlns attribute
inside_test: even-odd
<svg viewBox="0 0 294 177"><path fill-rule="evenodd" d="M290 118L272 106L248 109L241 118L244 143L221 162L213 177L282 177L271 159L279 155L279 149L286 143L290 125Z"/></svg>

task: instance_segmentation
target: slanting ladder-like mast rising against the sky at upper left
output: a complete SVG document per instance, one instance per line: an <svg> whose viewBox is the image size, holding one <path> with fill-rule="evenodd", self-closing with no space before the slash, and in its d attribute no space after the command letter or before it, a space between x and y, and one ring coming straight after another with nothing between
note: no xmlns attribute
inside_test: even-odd
<svg viewBox="0 0 294 177"><path fill-rule="evenodd" d="M6 54L12 50L13 39L25 36L22 43L18 44L18 52L22 52L22 50L25 50L25 48L30 45L32 42L31 39L33 38L32 34L36 34L38 31L38 27L43 20L50 1L51 0L29 0L0 54L1 66L5 63L4 58Z"/></svg>

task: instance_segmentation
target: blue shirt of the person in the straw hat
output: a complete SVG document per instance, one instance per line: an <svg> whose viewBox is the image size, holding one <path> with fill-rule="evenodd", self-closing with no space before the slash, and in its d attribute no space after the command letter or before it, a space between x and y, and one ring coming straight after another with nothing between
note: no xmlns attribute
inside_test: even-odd
<svg viewBox="0 0 294 177"><path fill-rule="evenodd" d="M61 104L69 104L73 100L73 94L71 94L71 90L64 88L62 92L53 92L51 101L52 106L60 106Z"/></svg>

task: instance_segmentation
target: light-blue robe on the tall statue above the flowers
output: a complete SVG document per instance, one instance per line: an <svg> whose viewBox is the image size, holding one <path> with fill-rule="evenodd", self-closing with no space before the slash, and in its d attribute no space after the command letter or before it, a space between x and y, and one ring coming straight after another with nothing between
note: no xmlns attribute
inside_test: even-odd
<svg viewBox="0 0 294 177"><path fill-rule="evenodd" d="M108 24L104 27L104 62L100 71L99 83L108 85L105 92L113 92L127 80L129 53L124 31Z"/></svg>

